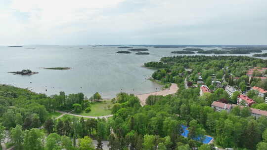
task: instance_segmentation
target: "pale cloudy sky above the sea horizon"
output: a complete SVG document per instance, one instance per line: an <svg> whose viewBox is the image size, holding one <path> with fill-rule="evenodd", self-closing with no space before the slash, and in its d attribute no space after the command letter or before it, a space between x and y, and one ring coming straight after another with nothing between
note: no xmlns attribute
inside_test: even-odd
<svg viewBox="0 0 267 150"><path fill-rule="evenodd" d="M267 44L267 0L0 0L0 45Z"/></svg>

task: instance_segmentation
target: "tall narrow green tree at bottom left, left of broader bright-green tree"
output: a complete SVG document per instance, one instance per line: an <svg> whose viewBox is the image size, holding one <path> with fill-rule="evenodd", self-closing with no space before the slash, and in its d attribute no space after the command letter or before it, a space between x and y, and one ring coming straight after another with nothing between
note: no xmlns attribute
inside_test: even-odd
<svg viewBox="0 0 267 150"><path fill-rule="evenodd" d="M23 139L24 133L22 131L21 125L16 125L15 128L12 128L10 131L11 141L14 144L16 150L23 150Z"/></svg>

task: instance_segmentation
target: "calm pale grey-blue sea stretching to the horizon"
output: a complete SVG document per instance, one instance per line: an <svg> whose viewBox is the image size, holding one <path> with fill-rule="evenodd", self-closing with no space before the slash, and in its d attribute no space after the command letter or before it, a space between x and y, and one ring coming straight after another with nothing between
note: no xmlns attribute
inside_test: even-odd
<svg viewBox="0 0 267 150"><path fill-rule="evenodd" d="M134 46L134 48L145 47ZM28 88L47 95L64 91L66 94L83 92L90 97L93 93L99 92L104 98L111 98L121 91L134 94L154 92L161 90L161 85L146 79L154 70L141 66L145 62L159 61L161 57L180 55L170 53L182 48L148 47L148 49L150 55L135 55L135 52L117 54L117 51L126 49L87 45L0 46L0 83ZM251 56L253 53L246 55ZM45 70L42 67L71 67L72 69ZM30 69L39 74L7 73L23 69Z"/></svg>

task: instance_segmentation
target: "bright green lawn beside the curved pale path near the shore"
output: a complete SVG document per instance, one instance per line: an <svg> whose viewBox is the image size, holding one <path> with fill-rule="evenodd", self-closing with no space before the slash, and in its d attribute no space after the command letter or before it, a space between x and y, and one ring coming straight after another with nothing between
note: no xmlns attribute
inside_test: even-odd
<svg viewBox="0 0 267 150"><path fill-rule="evenodd" d="M87 116L103 116L111 114L111 108L114 104L111 101L102 101L102 102L93 102L91 103L91 112L87 113L85 111L81 113L75 113L80 115L87 115ZM108 109L110 106L110 109Z"/></svg>

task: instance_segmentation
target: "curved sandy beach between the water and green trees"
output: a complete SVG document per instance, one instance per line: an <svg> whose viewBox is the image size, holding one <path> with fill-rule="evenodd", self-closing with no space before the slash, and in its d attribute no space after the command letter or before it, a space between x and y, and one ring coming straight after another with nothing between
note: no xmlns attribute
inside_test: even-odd
<svg viewBox="0 0 267 150"><path fill-rule="evenodd" d="M142 106L145 105L145 100L148 98L149 95L162 95L162 96L166 96L169 94L175 94L178 90L178 86L175 83L172 83L171 87L162 91L158 91L158 92L153 92L153 93L147 93L147 94L140 94L140 95L136 95L139 99L140 99L140 104Z"/></svg>

